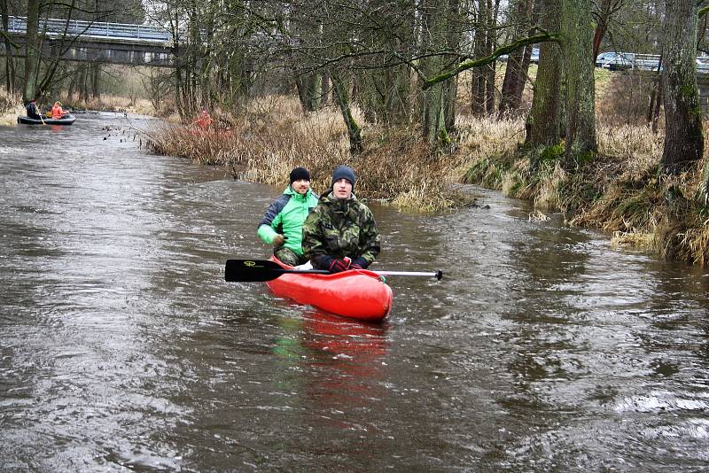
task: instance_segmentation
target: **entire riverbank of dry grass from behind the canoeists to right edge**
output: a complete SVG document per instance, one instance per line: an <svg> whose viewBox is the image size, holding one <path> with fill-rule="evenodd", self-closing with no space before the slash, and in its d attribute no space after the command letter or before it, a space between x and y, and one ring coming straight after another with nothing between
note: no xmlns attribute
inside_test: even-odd
<svg viewBox="0 0 709 473"><path fill-rule="evenodd" d="M475 183L529 199L542 214L564 213L570 225L607 231L613 244L702 266L709 262L707 159L691 174L661 174L664 136L650 128L599 124L596 159L565 170L560 148L522 148L522 119L459 116L455 148L431 153L417 128L378 128L364 123L356 109L355 118L367 134L356 157L350 156L339 111L304 114L294 97L263 98L207 130L162 126L150 132L148 147L274 186L284 185L292 167L308 167L316 190L327 189L331 169L346 163L358 173L360 197L425 212L471 204L452 184Z"/></svg>

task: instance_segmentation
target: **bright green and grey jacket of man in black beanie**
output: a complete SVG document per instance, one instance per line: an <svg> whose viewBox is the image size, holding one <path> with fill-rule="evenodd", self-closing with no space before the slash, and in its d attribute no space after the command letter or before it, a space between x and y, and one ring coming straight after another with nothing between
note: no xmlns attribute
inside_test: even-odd
<svg viewBox="0 0 709 473"><path fill-rule="evenodd" d="M301 196L291 186L286 187L283 195L274 200L263 215L258 235L264 243L273 244L273 237L280 233L286 237L284 246L302 255L303 221L316 205L317 194L312 190L308 189L305 196Z"/></svg>

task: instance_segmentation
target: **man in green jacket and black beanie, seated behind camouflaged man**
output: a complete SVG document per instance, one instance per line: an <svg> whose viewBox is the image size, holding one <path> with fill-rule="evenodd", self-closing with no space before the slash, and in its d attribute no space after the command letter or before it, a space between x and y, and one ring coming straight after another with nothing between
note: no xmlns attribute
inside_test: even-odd
<svg viewBox="0 0 709 473"><path fill-rule="evenodd" d="M277 198L259 223L258 235L264 243L273 244L273 254L287 265L298 266L308 261L300 246L303 221L317 205L317 194L310 189L310 173L304 167L291 171L291 183Z"/></svg>

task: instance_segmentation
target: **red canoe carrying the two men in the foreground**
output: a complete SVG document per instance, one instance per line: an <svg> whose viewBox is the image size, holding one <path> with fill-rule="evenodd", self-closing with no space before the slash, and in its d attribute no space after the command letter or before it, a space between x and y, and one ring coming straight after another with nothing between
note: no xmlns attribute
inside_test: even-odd
<svg viewBox="0 0 709 473"><path fill-rule="evenodd" d="M293 268L275 257L271 260L285 269ZM381 321L392 310L392 288L366 269L331 275L285 273L266 284L277 296L361 321Z"/></svg>

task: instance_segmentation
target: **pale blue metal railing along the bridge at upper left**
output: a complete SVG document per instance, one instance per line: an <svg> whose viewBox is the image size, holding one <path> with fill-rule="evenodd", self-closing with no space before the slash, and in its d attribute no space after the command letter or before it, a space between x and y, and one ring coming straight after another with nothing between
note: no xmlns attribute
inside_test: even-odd
<svg viewBox="0 0 709 473"><path fill-rule="evenodd" d="M95 38L136 40L141 42L168 43L172 35L165 27L151 25L130 25L127 23L109 23L105 21L86 21L82 19L40 19L40 31L49 34L82 35ZM27 33L27 17L10 17L9 33Z"/></svg>

